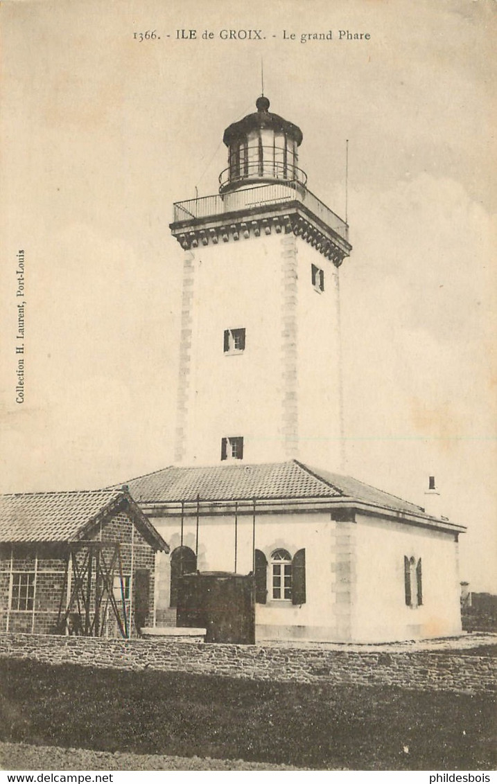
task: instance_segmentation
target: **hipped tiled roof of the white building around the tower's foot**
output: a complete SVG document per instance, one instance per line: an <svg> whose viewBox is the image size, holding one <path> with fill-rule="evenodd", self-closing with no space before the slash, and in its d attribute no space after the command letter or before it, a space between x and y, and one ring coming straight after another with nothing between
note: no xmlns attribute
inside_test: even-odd
<svg viewBox="0 0 497 784"><path fill-rule="evenodd" d="M249 499L354 498L389 509L422 513L421 506L364 485L352 477L286 463L222 463L218 466L169 466L126 482L138 503Z"/></svg>

